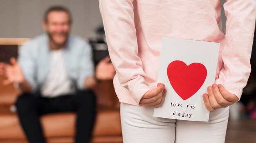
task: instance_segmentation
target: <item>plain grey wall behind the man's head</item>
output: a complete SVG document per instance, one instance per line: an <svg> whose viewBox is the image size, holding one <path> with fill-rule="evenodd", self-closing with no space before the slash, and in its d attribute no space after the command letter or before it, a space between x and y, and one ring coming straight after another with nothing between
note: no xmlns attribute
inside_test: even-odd
<svg viewBox="0 0 256 143"><path fill-rule="evenodd" d="M54 4L70 9L72 35L94 37L94 30L102 25L98 0L0 0L0 37L31 38L43 33L43 14Z"/></svg>

